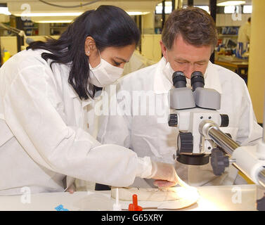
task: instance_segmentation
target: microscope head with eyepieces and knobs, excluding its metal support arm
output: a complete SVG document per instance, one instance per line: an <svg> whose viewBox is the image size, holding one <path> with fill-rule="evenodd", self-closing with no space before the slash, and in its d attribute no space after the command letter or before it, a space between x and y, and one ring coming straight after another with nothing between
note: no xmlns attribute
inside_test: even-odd
<svg viewBox="0 0 265 225"><path fill-rule="evenodd" d="M221 95L214 89L203 87L204 79L200 72L197 72L197 77L195 72L191 80L193 90L186 84L178 85L175 79L175 88L170 90L169 97L170 107L176 113L169 115L169 126L179 128L176 160L187 165L205 165L216 144L200 134L200 123L211 120L219 127L227 127L228 116L217 111L221 106Z"/></svg>

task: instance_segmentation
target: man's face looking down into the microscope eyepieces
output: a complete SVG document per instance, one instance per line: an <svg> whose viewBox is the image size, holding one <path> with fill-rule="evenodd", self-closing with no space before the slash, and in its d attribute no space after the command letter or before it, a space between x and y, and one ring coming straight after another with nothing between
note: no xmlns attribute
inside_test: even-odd
<svg viewBox="0 0 265 225"><path fill-rule="evenodd" d="M164 58L169 61L174 71L182 71L190 79L194 71L200 71L205 74L209 58L212 53L212 46L193 46L186 43L179 35L168 50L160 41Z"/></svg>

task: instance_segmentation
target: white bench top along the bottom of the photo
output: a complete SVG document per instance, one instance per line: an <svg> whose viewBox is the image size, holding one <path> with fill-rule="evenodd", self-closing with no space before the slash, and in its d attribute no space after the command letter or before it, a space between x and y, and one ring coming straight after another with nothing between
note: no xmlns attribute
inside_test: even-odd
<svg viewBox="0 0 265 225"><path fill-rule="evenodd" d="M256 190L254 184L198 187L198 202L182 210L256 210ZM63 205L64 209L70 211L108 211L112 210L115 203L110 197L110 191L37 193L26 198L27 201L23 195L0 196L0 210L56 211L58 205ZM138 202L138 205L141 205L141 202Z"/></svg>

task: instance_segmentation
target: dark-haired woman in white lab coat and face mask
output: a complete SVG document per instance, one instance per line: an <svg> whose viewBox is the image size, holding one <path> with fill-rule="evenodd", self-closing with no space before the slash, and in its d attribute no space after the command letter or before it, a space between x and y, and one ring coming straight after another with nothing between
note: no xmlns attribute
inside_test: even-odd
<svg viewBox="0 0 265 225"><path fill-rule="evenodd" d="M176 184L171 165L101 145L89 130L98 91L121 77L139 37L122 9L100 6L80 15L58 40L32 42L4 63L0 195L21 194L25 186L31 193L64 191L73 182L66 176L111 186L129 186L136 176L165 180L157 186Z"/></svg>

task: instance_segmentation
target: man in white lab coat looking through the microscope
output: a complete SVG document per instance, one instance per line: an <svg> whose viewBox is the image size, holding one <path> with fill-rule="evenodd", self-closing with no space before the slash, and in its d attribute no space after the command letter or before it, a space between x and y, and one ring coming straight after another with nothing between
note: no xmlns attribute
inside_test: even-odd
<svg viewBox="0 0 265 225"><path fill-rule="evenodd" d="M261 138L262 129L243 79L209 61L215 44L216 29L208 13L200 8L173 11L162 32L160 45L164 57L160 62L133 72L119 79L117 86L106 89L109 101L117 101L117 108L103 112L98 140L131 148L139 157L148 155L152 160L172 163L181 179L193 186L243 183L232 166L221 176L215 176L209 164L187 166L174 159L179 131L167 123L170 113L167 95L173 88L172 74L177 70L183 71L187 86L191 73L200 71L205 77L205 87L219 91L219 113L229 117L229 127L222 127L222 131L241 145L254 144ZM152 184L147 179L136 179L133 186Z"/></svg>

